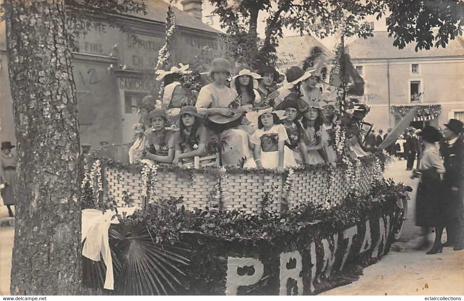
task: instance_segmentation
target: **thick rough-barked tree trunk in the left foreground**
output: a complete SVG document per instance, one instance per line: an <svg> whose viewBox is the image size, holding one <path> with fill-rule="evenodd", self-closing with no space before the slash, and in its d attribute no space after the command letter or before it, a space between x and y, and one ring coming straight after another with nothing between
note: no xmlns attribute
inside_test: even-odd
<svg viewBox="0 0 464 301"><path fill-rule="evenodd" d="M79 295L79 133L64 0L6 0L18 151L11 293Z"/></svg>

